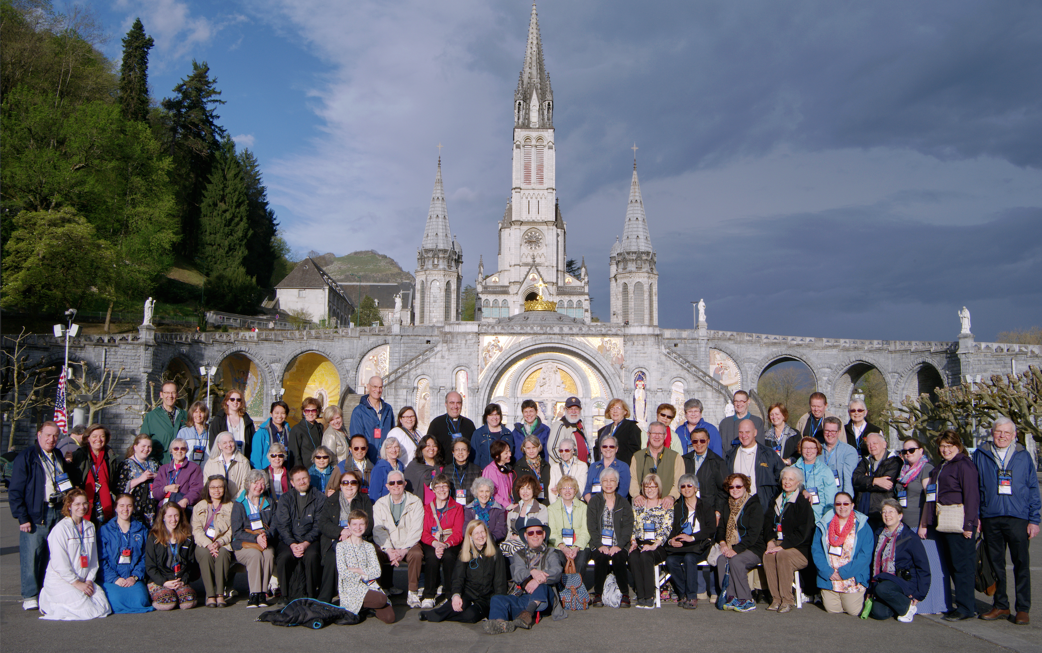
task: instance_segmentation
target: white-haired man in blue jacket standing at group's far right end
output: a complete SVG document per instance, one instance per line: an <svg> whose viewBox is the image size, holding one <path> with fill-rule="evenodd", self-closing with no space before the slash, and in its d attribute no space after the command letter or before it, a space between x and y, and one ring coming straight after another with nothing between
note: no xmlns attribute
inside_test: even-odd
<svg viewBox="0 0 1042 653"><path fill-rule="evenodd" d="M1042 499L1032 456L1017 443L1017 427L1009 418L998 418L991 427L991 442L973 452L981 484L981 531L995 570L995 598L985 621L1006 618L1014 624L1031 623L1032 574L1028 541L1039 534ZM1010 547L1017 610L1010 616L1006 594L1006 547Z"/></svg>

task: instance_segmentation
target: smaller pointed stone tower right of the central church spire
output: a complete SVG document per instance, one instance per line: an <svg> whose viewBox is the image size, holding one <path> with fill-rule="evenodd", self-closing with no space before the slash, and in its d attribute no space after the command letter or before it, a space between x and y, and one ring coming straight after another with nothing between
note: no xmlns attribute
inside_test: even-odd
<svg viewBox="0 0 1042 653"><path fill-rule="evenodd" d="M634 180L629 184L622 242L616 240L609 254L612 322L658 326L659 273L654 263L641 183L637 179L637 159L634 158Z"/></svg>

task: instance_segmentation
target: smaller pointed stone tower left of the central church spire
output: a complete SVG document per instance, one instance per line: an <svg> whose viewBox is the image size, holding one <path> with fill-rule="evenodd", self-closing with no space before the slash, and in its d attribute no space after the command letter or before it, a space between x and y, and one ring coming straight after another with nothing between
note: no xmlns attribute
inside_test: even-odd
<svg viewBox="0 0 1042 653"><path fill-rule="evenodd" d="M416 254L416 323L445 324L461 318L460 281L463 248L449 230L442 184L442 157L438 157L435 191L430 195L423 244Z"/></svg>

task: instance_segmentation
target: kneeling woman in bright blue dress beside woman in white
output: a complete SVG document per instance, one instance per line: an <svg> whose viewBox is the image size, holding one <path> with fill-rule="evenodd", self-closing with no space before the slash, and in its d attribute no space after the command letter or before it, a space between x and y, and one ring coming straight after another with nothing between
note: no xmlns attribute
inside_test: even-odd
<svg viewBox="0 0 1042 653"><path fill-rule="evenodd" d="M133 497L116 499L116 519L98 529L102 587L113 612L151 612L152 600L145 586L145 541L148 529L130 519Z"/></svg>

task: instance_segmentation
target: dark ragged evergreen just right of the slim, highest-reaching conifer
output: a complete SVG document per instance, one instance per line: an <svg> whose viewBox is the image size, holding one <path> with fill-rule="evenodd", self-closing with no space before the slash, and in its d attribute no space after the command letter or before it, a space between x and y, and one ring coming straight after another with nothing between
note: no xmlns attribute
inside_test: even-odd
<svg viewBox="0 0 1042 653"><path fill-rule="evenodd" d="M194 256L199 245L199 215L203 191L209 179L214 155L225 130L215 106L224 104L209 78L205 61L192 61L192 74L174 86L173 98L163 101L170 120L170 153L174 157L177 206L181 224L181 251Z"/></svg>

